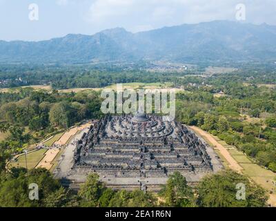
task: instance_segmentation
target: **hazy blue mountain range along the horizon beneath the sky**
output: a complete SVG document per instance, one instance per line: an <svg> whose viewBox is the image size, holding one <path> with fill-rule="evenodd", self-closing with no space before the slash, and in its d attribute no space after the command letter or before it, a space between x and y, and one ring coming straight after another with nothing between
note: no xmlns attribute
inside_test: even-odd
<svg viewBox="0 0 276 221"><path fill-rule="evenodd" d="M87 63L276 61L276 26L235 21L184 24L131 33L124 28L48 41L0 41L0 62Z"/></svg>

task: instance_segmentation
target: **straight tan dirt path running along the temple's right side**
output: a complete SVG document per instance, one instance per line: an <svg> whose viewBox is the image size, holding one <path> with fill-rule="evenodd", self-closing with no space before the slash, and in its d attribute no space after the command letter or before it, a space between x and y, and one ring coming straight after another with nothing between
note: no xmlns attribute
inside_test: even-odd
<svg viewBox="0 0 276 221"><path fill-rule="evenodd" d="M217 140L215 140L215 138L212 135L210 135L206 131L201 130L196 126L190 126L190 128L192 128L193 131L195 131L196 133L199 133L199 135L201 135L202 138L210 142L210 144L213 144L213 146L215 146L214 148L217 149L219 153L221 153L221 155L223 155L225 160L228 162L230 169L233 169L238 173L242 173L242 170L243 170L242 166L239 166L237 161L230 155L228 150L224 146L219 144L219 142L217 142Z"/></svg>

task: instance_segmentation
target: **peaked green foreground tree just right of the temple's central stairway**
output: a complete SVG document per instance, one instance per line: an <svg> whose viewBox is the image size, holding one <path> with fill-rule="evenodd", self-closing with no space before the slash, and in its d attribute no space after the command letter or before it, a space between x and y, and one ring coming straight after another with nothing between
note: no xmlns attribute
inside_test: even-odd
<svg viewBox="0 0 276 221"><path fill-rule="evenodd" d="M186 178L179 172L175 172L169 176L167 184L163 186L159 195L165 199L167 206L195 206L193 189L188 186Z"/></svg>

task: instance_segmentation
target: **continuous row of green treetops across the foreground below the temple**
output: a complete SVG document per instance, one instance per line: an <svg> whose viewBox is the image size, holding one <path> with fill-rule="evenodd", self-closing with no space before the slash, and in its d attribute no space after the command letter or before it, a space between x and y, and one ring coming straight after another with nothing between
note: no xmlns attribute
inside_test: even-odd
<svg viewBox="0 0 276 221"><path fill-rule="evenodd" d="M33 182L39 186L39 200L32 201L28 198L28 185ZM245 200L236 198L236 185L240 182L246 185ZM1 207L263 207L267 206L266 200L268 195L264 189L233 171L209 175L194 188L188 186L180 173L174 173L158 194L114 191L99 181L95 173L88 175L77 194L61 186L46 169L12 169L2 171L0 178Z"/></svg>

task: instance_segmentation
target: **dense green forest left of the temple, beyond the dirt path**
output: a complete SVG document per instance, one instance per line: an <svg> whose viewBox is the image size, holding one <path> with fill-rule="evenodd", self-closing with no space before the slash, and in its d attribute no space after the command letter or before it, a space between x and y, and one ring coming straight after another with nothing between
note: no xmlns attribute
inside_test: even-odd
<svg viewBox="0 0 276 221"><path fill-rule="evenodd" d="M66 129L83 119L101 117L99 93L51 93L32 88L0 93L0 131L8 133L0 142L1 157L20 153L59 128ZM5 166L1 160L1 166Z"/></svg>

